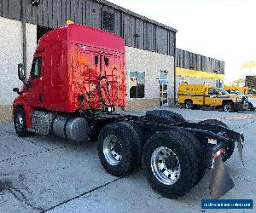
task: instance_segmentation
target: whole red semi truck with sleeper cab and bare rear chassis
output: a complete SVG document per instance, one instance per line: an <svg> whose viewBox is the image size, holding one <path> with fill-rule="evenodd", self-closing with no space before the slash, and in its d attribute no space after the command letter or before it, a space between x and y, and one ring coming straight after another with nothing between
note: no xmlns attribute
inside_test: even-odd
<svg viewBox="0 0 256 213"><path fill-rule="evenodd" d="M125 43L122 37L70 24L44 34L30 76L18 65L22 89L13 104L15 131L98 141L102 166L125 176L143 164L153 189L167 198L188 193L212 168L210 188L218 198L234 186L224 171L243 135L218 120L189 123L180 114L148 111L121 115L125 107Z"/></svg>

